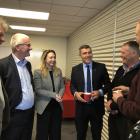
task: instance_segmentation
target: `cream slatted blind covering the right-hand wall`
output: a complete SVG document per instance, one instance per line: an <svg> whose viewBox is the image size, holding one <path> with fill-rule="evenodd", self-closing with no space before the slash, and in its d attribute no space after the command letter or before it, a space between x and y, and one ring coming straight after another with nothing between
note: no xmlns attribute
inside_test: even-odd
<svg viewBox="0 0 140 140"><path fill-rule="evenodd" d="M140 0L116 0L100 14L75 31L68 39L66 75L81 63L79 47L88 44L93 60L105 63L110 79L121 63L119 50L122 44L135 39L136 21L140 19ZM105 99L106 100L106 99ZM104 115L102 140L108 140L108 113Z"/></svg>

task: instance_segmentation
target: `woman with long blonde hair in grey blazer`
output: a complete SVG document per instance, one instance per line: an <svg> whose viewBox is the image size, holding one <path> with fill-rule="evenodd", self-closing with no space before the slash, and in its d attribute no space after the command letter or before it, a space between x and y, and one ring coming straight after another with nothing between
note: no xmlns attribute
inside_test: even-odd
<svg viewBox="0 0 140 140"><path fill-rule="evenodd" d="M61 140L64 81L54 50L45 50L34 72L37 111L36 140Z"/></svg>

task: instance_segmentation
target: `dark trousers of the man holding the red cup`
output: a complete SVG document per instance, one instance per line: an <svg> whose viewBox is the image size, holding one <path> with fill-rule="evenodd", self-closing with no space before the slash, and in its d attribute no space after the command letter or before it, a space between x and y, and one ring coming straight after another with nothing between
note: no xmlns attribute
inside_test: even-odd
<svg viewBox="0 0 140 140"><path fill-rule="evenodd" d="M76 105L77 140L86 140L88 124L91 125L92 140L101 140L103 126L102 115L96 112L93 104L81 103Z"/></svg>

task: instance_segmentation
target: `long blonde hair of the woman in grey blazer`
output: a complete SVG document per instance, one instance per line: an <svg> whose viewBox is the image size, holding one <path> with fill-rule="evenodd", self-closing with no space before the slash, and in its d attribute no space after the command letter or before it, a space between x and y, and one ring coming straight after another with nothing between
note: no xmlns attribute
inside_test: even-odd
<svg viewBox="0 0 140 140"><path fill-rule="evenodd" d="M45 50L42 53L42 56L41 56L41 62L42 63L41 63L41 67L40 67L42 77L46 77L49 73L49 69L46 66L45 60L46 60L47 55L51 52L54 53L54 55L56 56L56 53L55 53L54 50ZM54 72L54 76L56 76L56 77L61 74L60 69L58 67L56 67L56 65L53 68L53 72Z"/></svg>

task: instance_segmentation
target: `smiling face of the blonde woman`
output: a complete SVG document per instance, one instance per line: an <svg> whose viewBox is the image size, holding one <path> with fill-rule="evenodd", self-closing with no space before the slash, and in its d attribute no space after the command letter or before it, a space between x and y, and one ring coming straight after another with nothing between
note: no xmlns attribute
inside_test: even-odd
<svg viewBox="0 0 140 140"><path fill-rule="evenodd" d="M48 52L45 58L45 62L48 68L53 69L56 64L56 54L54 52Z"/></svg>

